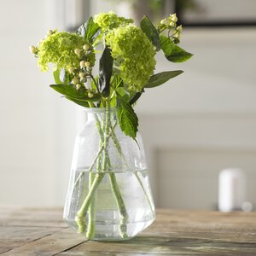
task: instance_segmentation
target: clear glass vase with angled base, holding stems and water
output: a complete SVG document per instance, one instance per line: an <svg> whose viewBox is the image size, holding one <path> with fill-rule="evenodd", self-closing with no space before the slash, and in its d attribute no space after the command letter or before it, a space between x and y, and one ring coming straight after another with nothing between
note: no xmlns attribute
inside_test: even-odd
<svg viewBox="0 0 256 256"><path fill-rule="evenodd" d="M142 137L125 136L115 108L86 112L63 218L89 240L130 239L154 221Z"/></svg>

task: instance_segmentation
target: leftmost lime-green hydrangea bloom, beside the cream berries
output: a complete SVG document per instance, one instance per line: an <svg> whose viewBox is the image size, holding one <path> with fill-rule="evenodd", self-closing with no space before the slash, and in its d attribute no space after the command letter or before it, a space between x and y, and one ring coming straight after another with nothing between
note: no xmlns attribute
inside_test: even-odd
<svg viewBox="0 0 256 256"><path fill-rule="evenodd" d="M42 71L48 71L49 63L55 64L55 69L79 68L81 58L75 49L82 49L87 42L76 33L54 32L38 45L38 66ZM95 52L86 56L91 66L95 63Z"/></svg>

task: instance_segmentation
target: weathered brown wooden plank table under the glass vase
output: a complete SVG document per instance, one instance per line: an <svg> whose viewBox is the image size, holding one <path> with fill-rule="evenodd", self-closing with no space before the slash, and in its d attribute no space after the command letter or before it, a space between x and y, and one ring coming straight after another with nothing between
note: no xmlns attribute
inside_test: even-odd
<svg viewBox="0 0 256 256"><path fill-rule="evenodd" d="M130 241L85 241L62 222L61 209L0 207L0 254L256 255L256 212L158 210Z"/></svg>

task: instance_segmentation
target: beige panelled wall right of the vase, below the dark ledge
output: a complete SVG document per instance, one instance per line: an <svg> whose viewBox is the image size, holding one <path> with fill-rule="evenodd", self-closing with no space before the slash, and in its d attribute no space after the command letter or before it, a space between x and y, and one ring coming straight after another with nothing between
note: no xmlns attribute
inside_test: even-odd
<svg viewBox="0 0 256 256"><path fill-rule="evenodd" d="M137 104L158 207L216 207L226 167L247 173L247 200L256 206L255 42L254 28L187 29L190 61L159 56L158 71L185 73Z"/></svg>

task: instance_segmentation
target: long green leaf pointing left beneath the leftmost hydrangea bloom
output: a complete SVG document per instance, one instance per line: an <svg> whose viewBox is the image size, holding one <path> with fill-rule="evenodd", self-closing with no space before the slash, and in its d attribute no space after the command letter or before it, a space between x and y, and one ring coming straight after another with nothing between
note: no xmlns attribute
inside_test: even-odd
<svg viewBox="0 0 256 256"><path fill-rule="evenodd" d="M100 95L94 95L90 98L85 94L81 94L79 93L79 90L74 89L70 84L51 84L49 86L62 95L67 96L73 100L78 100L80 102L97 102L101 99Z"/></svg>

